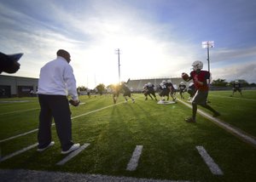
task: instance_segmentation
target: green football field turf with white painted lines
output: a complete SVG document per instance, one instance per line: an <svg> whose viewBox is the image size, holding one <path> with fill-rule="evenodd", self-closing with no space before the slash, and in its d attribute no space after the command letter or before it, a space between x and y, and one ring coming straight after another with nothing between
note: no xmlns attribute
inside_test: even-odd
<svg viewBox="0 0 256 182"><path fill-rule="evenodd" d="M256 91L230 94L211 91L209 105L221 116L198 106L196 123L184 122L191 103L178 94L171 105L143 94L133 95L134 104L120 96L115 105L111 95L80 96L82 105L70 107L73 141L81 147L69 155L61 154L54 122L55 145L36 151L38 98L2 99L0 171L98 174L105 181L256 181Z"/></svg>

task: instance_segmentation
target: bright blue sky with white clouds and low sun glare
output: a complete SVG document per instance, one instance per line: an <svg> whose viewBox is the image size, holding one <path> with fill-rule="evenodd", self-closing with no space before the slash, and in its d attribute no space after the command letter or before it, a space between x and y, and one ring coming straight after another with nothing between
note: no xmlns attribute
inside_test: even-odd
<svg viewBox="0 0 256 182"><path fill-rule="evenodd" d="M0 0L0 51L24 53L12 76L39 77L71 54L77 86L181 77L195 60L212 79L256 82L255 0ZM119 55L117 49L119 48ZM3 75L9 75L3 73Z"/></svg>

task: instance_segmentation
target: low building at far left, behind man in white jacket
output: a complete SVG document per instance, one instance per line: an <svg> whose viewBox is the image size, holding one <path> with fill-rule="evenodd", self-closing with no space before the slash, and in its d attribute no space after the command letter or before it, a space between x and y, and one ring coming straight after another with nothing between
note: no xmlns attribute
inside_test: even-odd
<svg viewBox="0 0 256 182"><path fill-rule="evenodd" d="M0 75L0 98L36 95L38 78Z"/></svg>

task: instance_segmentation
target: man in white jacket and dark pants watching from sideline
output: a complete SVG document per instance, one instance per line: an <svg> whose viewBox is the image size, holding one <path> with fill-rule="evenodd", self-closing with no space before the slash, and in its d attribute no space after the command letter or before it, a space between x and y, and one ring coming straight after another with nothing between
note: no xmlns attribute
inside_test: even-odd
<svg viewBox="0 0 256 182"><path fill-rule="evenodd" d="M79 103L73 68L69 65L70 54L63 49L57 58L41 68L38 80L38 100L41 107L38 126L38 151L54 145L51 141L51 122L54 118L56 131L61 142L61 153L77 150L79 144L72 141L71 111L67 96Z"/></svg>

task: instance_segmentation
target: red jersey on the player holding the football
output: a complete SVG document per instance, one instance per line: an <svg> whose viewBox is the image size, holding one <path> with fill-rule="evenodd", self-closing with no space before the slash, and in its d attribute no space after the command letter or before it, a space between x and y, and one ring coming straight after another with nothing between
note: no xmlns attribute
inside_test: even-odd
<svg viewBox="0 0 256 182"><path fill-rule="evenodd" d="M191 71L190 77L193 79L193 82L195 84L196 90L203 90L207 91L209 90L209 86L207 83L207 79L210 79L210 72L209 71ZM203 82L203 85L198 84L198 82Z"/></svg>

